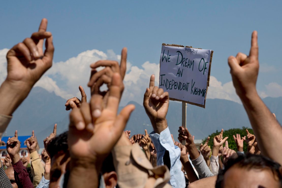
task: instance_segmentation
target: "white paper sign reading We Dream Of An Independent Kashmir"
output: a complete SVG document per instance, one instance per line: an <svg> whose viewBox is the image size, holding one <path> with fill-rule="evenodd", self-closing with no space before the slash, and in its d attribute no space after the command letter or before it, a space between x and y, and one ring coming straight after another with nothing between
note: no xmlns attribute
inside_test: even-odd
<svg viewBox="0 0 282 188"><path fill-rule="evenodd" d="M169 97L205 104L211 50L162 46L159 87Z"/></svg>

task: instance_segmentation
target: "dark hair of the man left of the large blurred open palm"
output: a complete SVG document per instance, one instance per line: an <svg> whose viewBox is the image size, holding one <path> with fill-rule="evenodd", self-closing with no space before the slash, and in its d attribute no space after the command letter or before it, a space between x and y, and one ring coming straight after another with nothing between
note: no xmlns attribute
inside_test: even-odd
<svg viewBox="0 0 282 188"><path fill-rule="evenodd" d="M51 159L60 151L63 151L64 153L69 152L68 133L68 131L63 132L47 145L47 151L49 152Z"/></svg>

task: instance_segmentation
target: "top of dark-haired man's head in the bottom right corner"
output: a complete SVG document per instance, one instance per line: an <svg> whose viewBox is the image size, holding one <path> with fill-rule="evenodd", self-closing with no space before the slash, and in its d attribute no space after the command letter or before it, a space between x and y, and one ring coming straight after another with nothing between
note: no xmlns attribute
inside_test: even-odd
<svg viewBox="0 0 282 188"><path fill-rule="evenodd" d="M262 155L239 156L228 160L215 187L281 187L280 167Z"/></svg>

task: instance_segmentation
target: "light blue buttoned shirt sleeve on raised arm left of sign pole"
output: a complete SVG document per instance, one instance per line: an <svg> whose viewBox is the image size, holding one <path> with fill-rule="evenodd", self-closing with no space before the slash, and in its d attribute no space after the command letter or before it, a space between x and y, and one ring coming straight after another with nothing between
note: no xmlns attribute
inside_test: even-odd
<svg viewBox="0 0 282 188"><path fill-rule="evenodd" d="M184 173L181 171L182 164L180 162L180 149L174 145L167 127L160 134L151 132L150 138L157 150L157 165L164 165L164 154L169 152L170 159L170 180L169 184L172 187L183 188L186 187Z"/></svg>

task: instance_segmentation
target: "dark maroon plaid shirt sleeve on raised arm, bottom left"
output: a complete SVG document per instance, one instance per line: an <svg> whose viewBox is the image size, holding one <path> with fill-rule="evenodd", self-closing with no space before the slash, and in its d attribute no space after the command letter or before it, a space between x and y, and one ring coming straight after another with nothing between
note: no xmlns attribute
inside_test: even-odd
<svg viewBox="0 0 282 188"><path fill-rule="evenodd" d="M32 182L29 179L27 169L23 166L21 160L13 164L15 180L18 187L33 188Z"/></svg>

